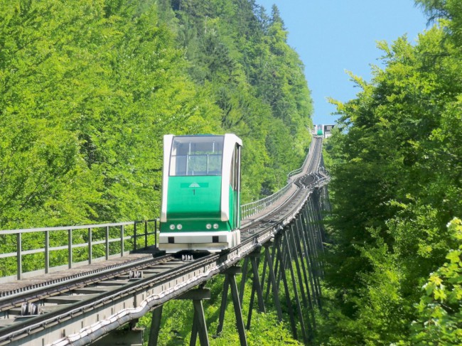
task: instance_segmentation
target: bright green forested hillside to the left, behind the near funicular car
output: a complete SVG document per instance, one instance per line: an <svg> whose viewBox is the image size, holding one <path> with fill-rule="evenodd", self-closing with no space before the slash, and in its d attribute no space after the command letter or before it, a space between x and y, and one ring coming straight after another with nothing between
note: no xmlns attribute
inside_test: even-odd
<svg viewBox="0 0 462 346"><path fill-rule="evenodd" d="M311 97L276 7L0 0L0 17L1 229L158 216L163 134L242 137L245 202L303 161Z"/></svg>

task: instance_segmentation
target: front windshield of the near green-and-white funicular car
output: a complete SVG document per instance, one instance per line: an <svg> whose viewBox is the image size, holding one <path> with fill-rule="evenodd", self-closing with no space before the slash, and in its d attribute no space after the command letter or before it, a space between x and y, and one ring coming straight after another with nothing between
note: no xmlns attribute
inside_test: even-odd
<svg viewBox="0 0 462 346"><path fill-rule="evenodd" d="M176 136L170 175L221 175L224 136Z"/></svg>

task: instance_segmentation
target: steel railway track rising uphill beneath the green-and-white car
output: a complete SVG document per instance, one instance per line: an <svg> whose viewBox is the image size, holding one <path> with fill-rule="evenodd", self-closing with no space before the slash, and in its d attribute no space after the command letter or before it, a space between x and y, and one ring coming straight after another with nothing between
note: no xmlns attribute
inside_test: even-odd
<svg viewBox="0 0 462 346"><path fill-rule="evenodd" d="M289 190L281 201L276 203L276 207L242 227L242 242L239 246L219 254L195 254L193 260L172 255L142 259L117 268L69 277L58 282L41 283L40 286L26 287L19 292L5 293L0 297L0 345L15 342L20 342L17 345L21 345L21 342L26 342L33 333L44 333L48 328L79 315L85 319L90 310L109 306L109 303L115 305L129 295L134 295L134 306L140 306L139 308L131 308L123 316L120 315L121 312L117 313L117 310L112 308L107 315L115 316L119 324L127 314L129 320L134 320L155 306L200 283L205 283L211 276L235 265L291 222L308 199L313 187L326 181L326 177L317 173L322 141L316 138L315 141L311 159L302 170L304 173L294 177L293 183L296 188ZM141 297L141 305L136 301L138 297ZM123 306L125 307L125 303ZM105 309L107 310L107 307ZM97 319L100 319L99 316ZM85 325L82 322L81 328ZM107 329L105 326L104 330ZM62 334L60 333L61 337L65 336ZM94 333L90 339L81 335L78 338L80 341L73 342L72 345L86 345L94 340L96 335L97 333Z"/></svg>

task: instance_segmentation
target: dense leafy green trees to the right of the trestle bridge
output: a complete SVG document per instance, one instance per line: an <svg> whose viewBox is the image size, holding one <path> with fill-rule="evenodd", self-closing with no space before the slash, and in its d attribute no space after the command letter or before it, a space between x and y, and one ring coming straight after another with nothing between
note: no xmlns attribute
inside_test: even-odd
<svg viewBox="0 0 462 346"><path fill-rule="evenodd" d="M428 30L335 102L323 345L462 343L462 1L416 3Z"/></svg>

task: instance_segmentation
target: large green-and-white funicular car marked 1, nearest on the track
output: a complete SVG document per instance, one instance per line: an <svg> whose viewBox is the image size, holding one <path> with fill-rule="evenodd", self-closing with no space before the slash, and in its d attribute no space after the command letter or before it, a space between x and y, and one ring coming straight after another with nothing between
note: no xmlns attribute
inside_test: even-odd
<svg viewBox="0 0 462 346"><path fill-rule="evenodd" d="M159 249L220 252L240 244L240 151L235 134L163 136Z"/></svg>

